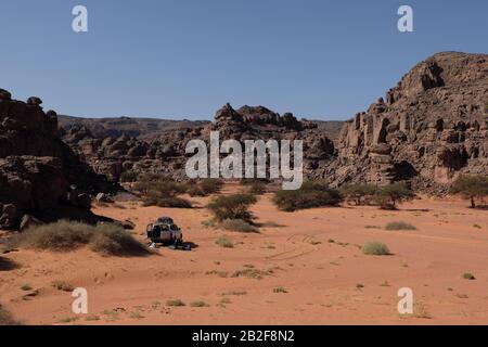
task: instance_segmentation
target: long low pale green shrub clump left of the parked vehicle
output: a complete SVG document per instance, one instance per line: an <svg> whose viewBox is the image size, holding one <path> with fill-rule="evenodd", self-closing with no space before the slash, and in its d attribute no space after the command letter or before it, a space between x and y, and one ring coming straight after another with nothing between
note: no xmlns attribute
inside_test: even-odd
<svg viewBox="0 0 488 347"><path fill-rule="evenodd" d="M147 248L118 226L104 223L89 226L73 221L59 221L29 228L13 239L13 244L54 252L73 250L90 245L104 255L144 255Z"/></svg>

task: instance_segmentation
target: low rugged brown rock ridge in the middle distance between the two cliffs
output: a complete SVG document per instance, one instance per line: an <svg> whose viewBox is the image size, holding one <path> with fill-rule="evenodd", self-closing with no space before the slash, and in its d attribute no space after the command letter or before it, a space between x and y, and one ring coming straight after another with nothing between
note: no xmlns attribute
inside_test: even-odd
<svg viewBox="0 0 488 347"><path fill-rule="evenodd" d="M97 138L84 125L62 129L63 140L99 174L114 181L123 172L163 174L184 180L185 146L190 140L209 142L210 131L219 131L222 140L304 139L306 170L313 175L334 155L334 143L311 121L298 120L287 113L283 116L262 106L234 110L226 104L217 111L215 121L201 127L159 131L153 140L143 141L126 133L120 137Z"/></svg>

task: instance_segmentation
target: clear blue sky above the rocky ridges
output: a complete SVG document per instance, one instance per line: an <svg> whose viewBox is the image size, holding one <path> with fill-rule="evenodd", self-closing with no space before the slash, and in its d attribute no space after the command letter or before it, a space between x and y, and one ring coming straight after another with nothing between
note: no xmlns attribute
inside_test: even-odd
<svg viewBox="0 0 488 347"><path fill-rule="evenodd" d="M346 119L435 52L488 52L486 0L0 2L0 88L75 116L206 119L230 102Z"/></svg>

